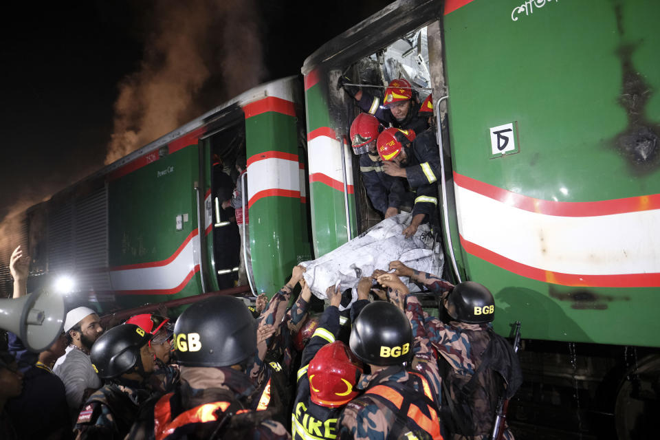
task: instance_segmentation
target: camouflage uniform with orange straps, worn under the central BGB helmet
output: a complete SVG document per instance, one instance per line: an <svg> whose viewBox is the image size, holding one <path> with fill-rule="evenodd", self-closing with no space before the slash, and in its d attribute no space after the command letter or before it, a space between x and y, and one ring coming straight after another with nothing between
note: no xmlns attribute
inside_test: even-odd
<svg viewBox="0 0 660 440"><path fill-rule="evenodd" d="M413 296L406 298L406 316L417 335L415 329L423 327L423 321ZM413 352L408 370L390 366L360 377L357 388L364 394L344 407L338 420L341 439L443 439L440 373L428 339L415 336Z"/></svg>

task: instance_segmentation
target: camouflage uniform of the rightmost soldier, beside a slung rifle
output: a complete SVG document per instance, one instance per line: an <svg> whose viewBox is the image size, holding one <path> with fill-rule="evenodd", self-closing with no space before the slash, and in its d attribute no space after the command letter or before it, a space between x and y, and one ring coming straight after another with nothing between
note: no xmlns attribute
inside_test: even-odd
<svg viewBox="0 0 660 440"><path fill-rule="evenodd" d="M432 292L442 294L443 299L448 291L453 288L447 281L426 272L415 271L415 278ZM508 344L508 342L497 336L492 331L492 325L490 324L465 324L452 321L445 325L441 320L428 316L426 313L423 313L423 316L425 325L417 330L413 326L413 331L417 331L415 334L418 336L426 336L434 349L442 356L442 360L445 361L441 362L443 384L448 389L449 398L452 399L452 408L456 408L455 411L459 414L472 415L471 423L464 420L454 421L456 426L453 426L452 430L459 433L454 433L452 440L489 440L495 419L497 400L502 393L503 386L507 386L507 382L503 381L503 377L507 377L510 388L507 391L511 395L520 386L521 377L519 377L520 365L518 364L518 358L515 355L510 355L513 353L512 350L509 353L500 352L499 359L494 361L494 364L489 365L489 369L484 371L483 374L478 374L472 382L472 393L467 396L467 399L461 399L465 395L461 391L465 391L465 385L470 382L475 372L478 371L482 357L491 340L494 340L500 347L501 344ZM505 365L500 368L497 362L503 362ZM511 369L508 374L507 367ZM502 375L495 374L495 371L502 373ZM461 406L462 408L459 408ZM461 432L463 434L460 434ZM504 431L503 438L513 440L514 436L507 428Z"/></svg>

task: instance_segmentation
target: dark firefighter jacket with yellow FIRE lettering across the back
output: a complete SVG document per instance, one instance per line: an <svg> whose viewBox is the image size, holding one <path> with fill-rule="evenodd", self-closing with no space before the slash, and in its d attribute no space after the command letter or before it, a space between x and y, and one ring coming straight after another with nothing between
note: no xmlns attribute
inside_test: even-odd
<svg viewBox="0 0 660 440"><path fill-rule="evenodd" d="M368 300L358 300L351 307L351 318L357 317L360 310L369 304ZM328 408L311 401L309 393L309 377L307 367L316 353L325 346L335 342L342 328L342 319L337 307L329 306L323 312L318 327L303 350L303 359L298 370L296 401L291 415L291 433L294 440L327 439L337 437L337 419L342 408Z"/></svg>

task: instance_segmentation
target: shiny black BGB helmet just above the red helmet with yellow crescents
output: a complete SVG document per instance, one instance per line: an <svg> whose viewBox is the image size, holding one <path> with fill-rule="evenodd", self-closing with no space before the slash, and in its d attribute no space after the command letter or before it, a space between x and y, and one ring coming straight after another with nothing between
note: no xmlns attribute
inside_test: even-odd
<svg viewBox="0 0 660 440"><path fill-rule="evenodd" d="M386 366L412 359L410 321L392 303L375 301L366 305L353 324L351 350L362 362Z"/></svg>

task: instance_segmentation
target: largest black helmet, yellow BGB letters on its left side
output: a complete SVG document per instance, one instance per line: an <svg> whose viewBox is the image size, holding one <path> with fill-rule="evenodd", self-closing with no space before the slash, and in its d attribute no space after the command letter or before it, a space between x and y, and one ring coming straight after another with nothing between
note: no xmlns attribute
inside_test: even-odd
<svg viewBox="0 0 660 440"><path fill-rule="evenodd" d="M256 321L239 298L214 296L179 316L174 345L184 366L241 364L256 351Z"/></svg>

